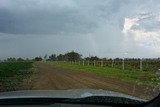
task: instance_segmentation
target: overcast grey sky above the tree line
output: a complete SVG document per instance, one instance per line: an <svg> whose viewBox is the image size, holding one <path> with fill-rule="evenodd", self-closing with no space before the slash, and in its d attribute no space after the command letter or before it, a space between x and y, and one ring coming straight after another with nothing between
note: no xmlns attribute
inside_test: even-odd
<svg viewBox="0 0 160 107"><path fill-rule="evenodd" d="M0 0L0 59L72 50L160 57L160 1Z"/></svg>

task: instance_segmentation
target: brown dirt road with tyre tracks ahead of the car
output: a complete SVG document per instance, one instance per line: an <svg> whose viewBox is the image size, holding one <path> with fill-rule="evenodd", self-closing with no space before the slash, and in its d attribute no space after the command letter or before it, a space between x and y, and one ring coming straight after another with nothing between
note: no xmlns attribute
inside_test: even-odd
<svg viewBox="0 0 160 107"><path fill-rule="evenodd" d="M35 64L35 72L31 77L30 85L32 90L105 89L141 98L157 95L150 87L146 90L146 86L91 73L56 68L42 62Z"/></svg>

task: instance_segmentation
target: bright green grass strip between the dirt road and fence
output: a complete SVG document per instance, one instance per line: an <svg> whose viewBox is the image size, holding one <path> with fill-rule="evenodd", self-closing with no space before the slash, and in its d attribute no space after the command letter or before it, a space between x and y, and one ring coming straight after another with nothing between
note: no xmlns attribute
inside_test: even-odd
<svg viewBox="0 0 160 107"><path fill-rule="evenodd" d="M67 62L45 62L51 66L66 68L78 72L89 72L100 76L116 78L127 82L136 83L139 85L149 85L152 87L160 87L160 75L155 72L140 71L140 70L122 70L112 67L96 67L83 66L78 64L70 64Z"/></svg>

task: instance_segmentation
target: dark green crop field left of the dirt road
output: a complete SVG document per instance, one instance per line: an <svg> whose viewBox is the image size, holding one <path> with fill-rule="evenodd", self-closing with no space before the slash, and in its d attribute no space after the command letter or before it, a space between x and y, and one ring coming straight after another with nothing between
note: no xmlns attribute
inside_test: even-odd
<svg viewBox="0 0 160 107"><path fill-rule="evenodd" d="M33 62L0 62L0 91L14 91L32 73Z"/></svg>

